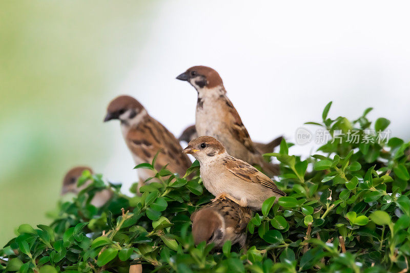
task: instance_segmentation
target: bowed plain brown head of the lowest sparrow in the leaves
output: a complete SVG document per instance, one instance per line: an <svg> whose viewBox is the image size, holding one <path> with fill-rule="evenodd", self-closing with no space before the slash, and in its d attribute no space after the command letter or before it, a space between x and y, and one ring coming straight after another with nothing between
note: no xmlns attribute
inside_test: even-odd
<svg viewBox="0 0 410 273"><path fill-rule="evenodd" d="M223 245L224 222L219 214L211 208L198 211L192 221L192 236L195 244L206 241L215 246Z"/></svg>

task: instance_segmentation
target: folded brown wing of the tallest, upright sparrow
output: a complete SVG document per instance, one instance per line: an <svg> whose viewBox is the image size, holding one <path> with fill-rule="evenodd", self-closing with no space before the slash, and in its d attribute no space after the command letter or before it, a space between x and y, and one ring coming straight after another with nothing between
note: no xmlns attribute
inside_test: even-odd
<svg viewBox="0 0 410 273"><path fill-rule="evenodd" d="M229 129L231 133L238 139L245 148L247 148L250 152L254 153L255 148L252 143L251 137L249 136L248 130L242 123L238 112L236 111L235 107L233 106L232 102L229 100L228 97L224 97L225 104L228 107L229 115Z"/></svg>

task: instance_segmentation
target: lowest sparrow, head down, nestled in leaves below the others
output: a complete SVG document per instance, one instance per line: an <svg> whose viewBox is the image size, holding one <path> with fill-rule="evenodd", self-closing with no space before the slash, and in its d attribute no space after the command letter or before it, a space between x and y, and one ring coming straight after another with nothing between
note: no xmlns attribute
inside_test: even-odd
<svg viewBox="0 0 410 273"><path fill-rule="evenodd" d="M202 206L191 215L192 236L195 244L206 241L221 248L230 240L232 244L245 245L245 228L252 218L249 207L241 207L228 198L220 198Z"/></svg>

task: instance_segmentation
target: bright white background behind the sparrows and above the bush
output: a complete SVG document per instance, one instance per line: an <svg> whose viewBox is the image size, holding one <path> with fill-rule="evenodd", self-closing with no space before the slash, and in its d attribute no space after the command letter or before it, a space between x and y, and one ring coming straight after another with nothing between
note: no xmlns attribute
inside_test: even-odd
<svg viewBox="0 0 410 273"><path fill-rule="evenodd" d="M175 77L205 65L221 75L255 141L294 139L304 122L320 121L331 100L330 117L354 119L374 107L368 117L388 118L392 135L408 141L409 7L396 1L162 2L148 39L130 56L134 68L112 97L133 95L178 136L194 123L196 92ZM129 185L136 174L114 123L115 152L100 169Z"/></svg>

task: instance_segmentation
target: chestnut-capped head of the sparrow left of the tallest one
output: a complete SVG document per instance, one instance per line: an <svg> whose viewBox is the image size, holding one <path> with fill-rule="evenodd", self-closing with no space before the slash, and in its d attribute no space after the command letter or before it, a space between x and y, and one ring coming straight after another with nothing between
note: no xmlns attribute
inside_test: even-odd
<svg viewBox="0 0 410 273"><path fill-rule="evenodd" d="M119 96L113 99L107 107L107 115L104 122L111 119L119 119L122 124L130 125L138 115L147 112L141 103L131 96Z"/></svg>

